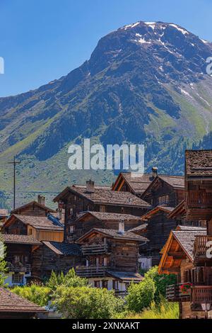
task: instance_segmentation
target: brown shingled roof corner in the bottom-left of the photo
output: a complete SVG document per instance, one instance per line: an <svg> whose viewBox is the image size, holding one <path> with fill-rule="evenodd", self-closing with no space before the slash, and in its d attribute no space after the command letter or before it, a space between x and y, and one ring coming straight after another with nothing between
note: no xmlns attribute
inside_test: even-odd
<svg viewBox="0 0 212 333"><path fill-rule="evenodd" d="M0 312L45 313L47 311L6 288L0 288Z"/></svg>

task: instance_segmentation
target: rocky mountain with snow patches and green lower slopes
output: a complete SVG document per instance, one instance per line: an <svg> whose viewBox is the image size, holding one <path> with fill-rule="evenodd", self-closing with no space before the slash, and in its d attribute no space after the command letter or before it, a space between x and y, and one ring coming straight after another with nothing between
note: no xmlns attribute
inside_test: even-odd
<svg viewBox="0 0 212 333"><path fill-rule="evenodd" d="M184 149L212 131L211 55L211 43L180 26L138 22L102 38L90 60L66 77L0 98L1 190L11 191L4 163L14 154L21 198L89 176L111 182L109 171L68 169L69 145L89 137L104 145L144 143L146 169L155 164L182 174Z"/></svg>

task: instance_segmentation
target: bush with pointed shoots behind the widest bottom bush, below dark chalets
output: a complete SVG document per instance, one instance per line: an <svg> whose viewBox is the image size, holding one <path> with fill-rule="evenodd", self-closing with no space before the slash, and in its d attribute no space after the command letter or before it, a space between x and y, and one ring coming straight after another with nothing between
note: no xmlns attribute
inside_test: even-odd
<svg viewBox="0 0 212 333"><path fill-rule="evenodd" d="M70 269L70 271L64 275L63 272L57 274L52 271L52 274L47 282L47 287L51 290L56 290L58 286L64 285L67 287L83 287L88 286L87 278L80 278L76 275L74 269Z"/></svg>

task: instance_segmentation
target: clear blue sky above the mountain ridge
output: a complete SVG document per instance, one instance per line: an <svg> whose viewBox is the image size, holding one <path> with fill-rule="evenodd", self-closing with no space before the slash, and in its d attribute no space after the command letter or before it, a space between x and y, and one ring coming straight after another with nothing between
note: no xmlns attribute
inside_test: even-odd
<svg viewBox="0 0 212 333"><path fill-rule="evenodd" d="M0 0L0 13L0 96L68 74L103 35L136 21L177 23L212 41L211 0Z"/></svg>

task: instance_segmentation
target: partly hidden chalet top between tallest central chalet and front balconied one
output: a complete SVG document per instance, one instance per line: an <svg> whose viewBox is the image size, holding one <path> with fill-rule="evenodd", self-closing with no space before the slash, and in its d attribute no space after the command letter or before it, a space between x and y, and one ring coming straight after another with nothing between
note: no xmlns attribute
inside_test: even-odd
<svg viewBox="0 0 212 333"><path fill-rule="evenodd" d="M141 217L129 214L86 212L71 222L69 234L72 232L72 240L76 240L93 228L119 229L119 222L124 221L125 230L141 225Z"/></svg>

